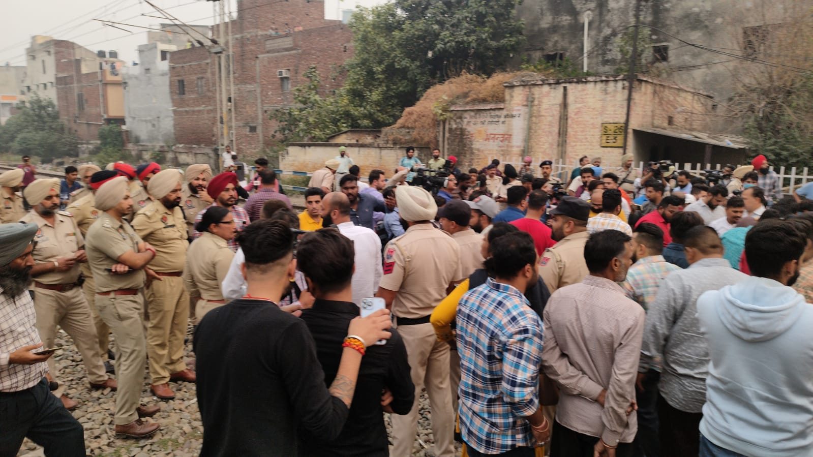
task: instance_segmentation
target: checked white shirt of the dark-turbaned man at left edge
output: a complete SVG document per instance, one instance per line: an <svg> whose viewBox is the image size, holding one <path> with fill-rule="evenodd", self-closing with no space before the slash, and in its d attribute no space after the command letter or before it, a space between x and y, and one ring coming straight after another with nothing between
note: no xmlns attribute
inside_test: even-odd
<svg viewBox="0 0 813 457"><path fill-rule="evenodd" d="M28 290L10 297L0 289L0 392L30 389L48 372L45 362L8 363L15 350L42 342L36 323L37 313Z"/></svg>

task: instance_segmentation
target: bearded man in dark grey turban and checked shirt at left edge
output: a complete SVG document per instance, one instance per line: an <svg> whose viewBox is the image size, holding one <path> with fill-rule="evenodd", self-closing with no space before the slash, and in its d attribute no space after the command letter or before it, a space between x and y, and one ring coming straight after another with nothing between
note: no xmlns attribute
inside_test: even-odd
<svg viewBox="0 0 813 457"><path fill-rule="evenodd" d="M44 377L53 352L34 352L42 342L28 285L38 230L37 224L0 225L0 455L16 455L28 437L45 455L79 457L85 455L82 426L50 394Z"/></svg>

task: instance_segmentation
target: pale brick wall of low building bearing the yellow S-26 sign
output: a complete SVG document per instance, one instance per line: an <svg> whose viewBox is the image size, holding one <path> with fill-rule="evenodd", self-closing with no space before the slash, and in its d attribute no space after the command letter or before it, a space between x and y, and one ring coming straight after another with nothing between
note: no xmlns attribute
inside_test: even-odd
<svg viewBox="0 0 813 457"><path fill-rule="evenodd" d="M624 76L509 81L504 104L452 109L445 125L444 155L457 156L461 168L469 164L481 168L495 158L519 163L524 155L537 163L542 159L577 163L582 155L601 156L605 167L617 167L623 148L602 147L602 123L623 124L626 103ZM633 89L629 134L634 128L713 132L715 106L707 94L641 77ZM654 154L651 141L645 140L628 139L636 160ZM697 160L694 148L659 136L659 144L664 141L675 143L669 159Z"/></svg>

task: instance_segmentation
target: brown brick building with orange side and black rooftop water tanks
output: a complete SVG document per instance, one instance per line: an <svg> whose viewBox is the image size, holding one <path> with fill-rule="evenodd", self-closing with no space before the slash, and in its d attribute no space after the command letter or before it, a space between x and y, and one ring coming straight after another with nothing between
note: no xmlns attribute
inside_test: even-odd
<svg viewBox="0 0 813 457"><path fill-rule="evenodd" d="M102 125L124 124L122 61L98 63L91 72L76 72L56 78L59 119L72 129L80 141L98 140Z"/></svg>

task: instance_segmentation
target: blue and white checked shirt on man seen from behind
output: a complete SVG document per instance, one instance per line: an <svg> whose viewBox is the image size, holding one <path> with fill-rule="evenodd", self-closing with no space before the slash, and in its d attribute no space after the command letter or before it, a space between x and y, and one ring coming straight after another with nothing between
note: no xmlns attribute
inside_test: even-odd
<svg viewBox="0 0 813 457"><path fill-rule="evenodd" d="M484 454L533 447L539 407L542 321L520 290L493 281L469 290L457 310L460 432Z"/></svg>

